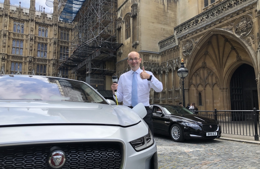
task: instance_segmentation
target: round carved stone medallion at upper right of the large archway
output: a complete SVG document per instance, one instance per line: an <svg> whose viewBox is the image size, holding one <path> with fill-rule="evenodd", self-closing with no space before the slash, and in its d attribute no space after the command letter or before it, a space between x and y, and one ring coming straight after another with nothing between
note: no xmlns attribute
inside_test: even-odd
<svg viewBox="0 0 260 169"><path fill-rule="evenodd" d="M234 32L238 37L243 37L248 35L252 28L253 28L253 22L252 18L249 15L242 16L237 19L235 22Z"/></svg>

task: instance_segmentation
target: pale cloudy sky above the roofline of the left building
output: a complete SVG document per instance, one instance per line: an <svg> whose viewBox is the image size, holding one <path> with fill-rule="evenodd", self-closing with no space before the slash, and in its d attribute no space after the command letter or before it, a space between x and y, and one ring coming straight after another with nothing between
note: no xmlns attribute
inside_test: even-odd
<svg viewBox="0 0 260 169"><path fill-rule="evenodd" d="M21 2L21 6L30 8L30 0L10 0L10 3L15 5L19 5L19 2ZM47 7L45 2L46 0L36 0L35 1L36 10L39 10L39 6L42 5L42 10L45 7L45 12L50 12L50 10L53 11L53 8Z"/></svg>

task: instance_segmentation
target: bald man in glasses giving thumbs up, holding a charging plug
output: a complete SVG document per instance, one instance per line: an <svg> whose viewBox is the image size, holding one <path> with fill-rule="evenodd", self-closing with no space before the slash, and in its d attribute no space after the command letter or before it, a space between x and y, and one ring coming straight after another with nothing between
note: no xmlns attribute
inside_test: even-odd
<svg viewBox="0 0 260 169"><path fill-rule="evenodd" d="M111 89L113 94L117 90L118 102L123 101L123 105L133 108L138 103L143 103L147 110L147 115L143 120L147 123L149 129L153 133L153 113L149 109L150 89L153 88L156 92L163 90L163 84L153 76L152 72L140 69L142 58L137 52L128 54L127 63L131 70L122 74L118 83L113 83ZM133 86L133 87L132 87ZM114 96L114 99L116 97Z"/></svg>

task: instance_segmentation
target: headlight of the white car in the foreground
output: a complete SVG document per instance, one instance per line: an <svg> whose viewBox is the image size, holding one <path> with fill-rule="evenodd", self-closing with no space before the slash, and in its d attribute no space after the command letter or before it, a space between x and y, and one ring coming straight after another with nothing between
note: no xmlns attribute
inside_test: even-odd
<svg viewBox="0 0 260 169"><path fill-rule="evenodd" d="M137 152L149 148L150 146L153 145L153 143L154 143L154 139L150 129L147 135L140 137L136 140L130 141L130 144Z"/></svg>

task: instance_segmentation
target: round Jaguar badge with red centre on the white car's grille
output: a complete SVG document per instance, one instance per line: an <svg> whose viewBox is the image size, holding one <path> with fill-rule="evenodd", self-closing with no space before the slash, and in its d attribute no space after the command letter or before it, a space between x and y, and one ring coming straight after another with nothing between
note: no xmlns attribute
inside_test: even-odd
<svg viewBox="0 0 260 169"><path fill-rule="evenodd" d="M64 151L55 150L49 153L47 164L51 169L61 169L66 163L67 157Z"/></svg>

